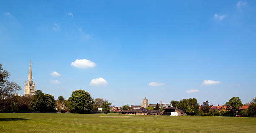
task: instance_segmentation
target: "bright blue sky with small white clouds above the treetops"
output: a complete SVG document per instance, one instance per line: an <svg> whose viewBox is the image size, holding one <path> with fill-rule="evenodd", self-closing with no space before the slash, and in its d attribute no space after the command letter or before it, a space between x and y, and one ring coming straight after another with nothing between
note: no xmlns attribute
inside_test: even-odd
<svg viewBox="0 0 256 133"><path fill-rule="evenodd" d="M1 1L0 63L20 94L31 60L36 90L55 98L83 89L116 106L145 95L246 103L256 96L255 13L254 0Z"/></svg>

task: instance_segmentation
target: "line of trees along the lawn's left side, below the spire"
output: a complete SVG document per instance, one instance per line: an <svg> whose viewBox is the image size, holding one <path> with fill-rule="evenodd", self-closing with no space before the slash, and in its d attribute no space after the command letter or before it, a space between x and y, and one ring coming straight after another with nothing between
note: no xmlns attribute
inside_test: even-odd
<svg viewBox="0 0 256 133"><path fill-rule="evenodd" d="M72 95L64 100L59 96L55 100L53 95L44 94L41 90L36 90L34 95L20 96L18 90L21 90L14 82L9 82L10 74L3 70L0 64L0 112L56 112L61 110L69 110L74 113L91 113L102 107L102 112L110 111L111 103L102 98L91 97L90 93L84 90L75 90Z"/></svg>

